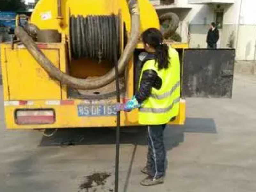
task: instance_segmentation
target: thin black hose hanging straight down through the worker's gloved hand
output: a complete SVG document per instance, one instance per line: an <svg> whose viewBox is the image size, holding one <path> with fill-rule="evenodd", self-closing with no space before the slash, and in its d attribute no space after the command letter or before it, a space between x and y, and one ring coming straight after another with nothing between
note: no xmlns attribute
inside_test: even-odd
<svg viewBox="0 0 256 192"><path fill-rule="evenodd" d="M116 21L115 16L113 16L113 28L114 33L113 35L113 60L115 63L115 72L116 72L116 100L117 103L120 103L120 87L119 87L119 77L118 77L118 59L117 59L117 36L116 36ZM117 119L116 119L116 163L115 163L115 192L118 192L119 187L119 151L120 151L120 111L117 112Z"/></svg>

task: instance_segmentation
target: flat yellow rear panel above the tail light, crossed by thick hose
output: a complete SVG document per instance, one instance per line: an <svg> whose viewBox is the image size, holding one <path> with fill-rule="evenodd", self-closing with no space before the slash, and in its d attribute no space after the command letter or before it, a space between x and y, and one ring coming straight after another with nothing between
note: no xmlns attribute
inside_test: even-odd
<svg viewBox="0 0 256 192"><path fill-rule="evenodd" d="M57 68L60 67L58 49L43 52ZM4 55L9 100L61 99L60 82L51 79L27 49L4 48Z"/></svg>

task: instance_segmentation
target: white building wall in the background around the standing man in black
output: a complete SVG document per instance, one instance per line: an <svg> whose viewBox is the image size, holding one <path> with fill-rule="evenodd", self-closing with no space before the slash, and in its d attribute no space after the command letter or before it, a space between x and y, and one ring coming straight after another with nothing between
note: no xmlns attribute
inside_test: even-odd
<svg viewBox="0 0 256 192"><path fill-rule="evenodd" d="M242 2L242 6L241 5ZM176 0L170 10L158 11L175 12L181 19L178 33L183 41L188 40L190 32L191 48L206 48L206 36L209 24L215 21L218 4L189 4L188 0ZM224 10L223 28L220 29L218 48L232 46L236 48L236 60L255 60L256 47L256 0L234 0L234 4L220 4ZM180 10L177 10L179 7ZM191 7L185 11L182 7ZM241 14L240 14L241 8Z"/></svg>

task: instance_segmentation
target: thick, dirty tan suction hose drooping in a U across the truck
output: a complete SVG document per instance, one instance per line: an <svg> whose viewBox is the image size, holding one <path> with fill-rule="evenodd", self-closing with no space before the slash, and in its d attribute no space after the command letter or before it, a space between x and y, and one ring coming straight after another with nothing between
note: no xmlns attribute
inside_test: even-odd
<svg viewBox="0 0 256 192"><path fill-rule="evenodd" d="M124 72L124 69L133 54L140 36L140 13L138 1L127 0L127 2L129 4L131 14L131 35L124 52L118 61L119 74ZM30 52L36 61L44 68L44 70L46 70L52 78L59 80L62 84L66 84L72 88L88 90L103 87L115 79L115 68L112 68L111 71L109 71L106 75L93 79L78 79L69 76L52 64L52 62L37 47L36 43L22 27L17 27L15 29L15 34L28 49L28 52Z"/></svg>

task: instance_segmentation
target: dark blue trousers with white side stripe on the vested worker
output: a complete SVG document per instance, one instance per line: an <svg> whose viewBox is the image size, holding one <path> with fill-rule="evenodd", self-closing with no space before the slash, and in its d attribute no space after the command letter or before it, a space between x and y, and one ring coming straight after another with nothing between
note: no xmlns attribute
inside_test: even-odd
<svg viewBox="0 0 256 192"><path fill-rule="evenodd" d="M164 125L148 126L147 168L155 179L165 174L166 151L164 147Z"/></svg>

